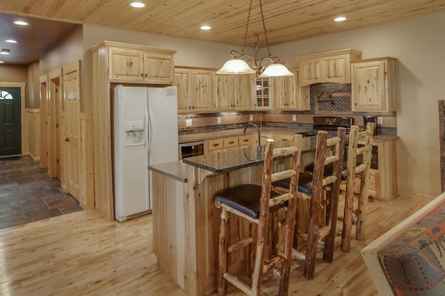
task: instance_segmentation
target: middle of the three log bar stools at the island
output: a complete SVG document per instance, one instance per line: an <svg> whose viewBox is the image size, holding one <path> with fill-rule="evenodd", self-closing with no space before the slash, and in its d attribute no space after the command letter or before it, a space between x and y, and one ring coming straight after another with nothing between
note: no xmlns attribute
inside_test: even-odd
<svg viewBox="0 0 445 296"><path fill-rule="evenodd" d="M338 128L337 135L327 138L326 131L318 131L314 171L300 172L298 182L298 199L310 199L309 228L307 233L306 254L294 250L297 258L305 260L303 276L314 279L316 263L316 247L318 240L325 239L323 261L332 262L334 256L334 239L337 226L337 210L339 202L341 171L343 170L343 153L346 129ZM333 152L331 152L333 148ZM325 167L332 166L330 174L326 175ZM286 188L287 180L273 183L274 190ZM326 220L321 221L323 188L327 192ZM298 218L297 218L298 220ZM297 237L297 233L295 233ZM294 238L294 247L298 247L298 240Z"/></svg>

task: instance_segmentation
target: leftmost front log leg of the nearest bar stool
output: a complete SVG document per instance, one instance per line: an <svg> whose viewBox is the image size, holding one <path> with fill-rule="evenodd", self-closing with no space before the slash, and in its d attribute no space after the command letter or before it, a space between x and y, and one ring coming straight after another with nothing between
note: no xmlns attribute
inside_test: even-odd
<svg viewBox="0 0 445 296"><path fill-rule="evenodd" d="M224 278L224 274L227 272L227 220L229 219L229 213L225 211L221 212L220 221L220 245L218 252L218 295L222 296L227 293L227 281Z"/></svg>

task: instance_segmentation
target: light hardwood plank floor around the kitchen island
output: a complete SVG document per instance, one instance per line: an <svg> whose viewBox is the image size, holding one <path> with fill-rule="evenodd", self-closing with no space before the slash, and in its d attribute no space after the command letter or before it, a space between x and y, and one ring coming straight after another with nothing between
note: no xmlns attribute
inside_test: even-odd
<svg viewBox="0 0 445 296"><path fill-rule="evenodd" d="M312 281L294 261L289 295L377 295L360 249L429 201L369 202L366 240L349 253L336 240L334 263L318 263ZM262 295L276 295L276 283L265 275ZM120 223L80 211L0 230L0 295L187 294L156 267L152 215ZM229 295L244 294L229 285Z"/></svg>

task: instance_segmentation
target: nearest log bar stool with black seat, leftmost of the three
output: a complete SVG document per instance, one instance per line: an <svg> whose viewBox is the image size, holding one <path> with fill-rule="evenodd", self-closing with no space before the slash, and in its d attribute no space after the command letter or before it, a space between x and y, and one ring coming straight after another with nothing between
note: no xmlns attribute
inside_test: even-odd
<svg viewBox="0 0 445 296"><path fill-rule="evenodd" d="M227 281L248 295L261 294L261 277L268 270L277 269L281 265L280 292L279 295L287 295L289 290L289 274L292 261L293 230L295 227L297 207L297 184L298 171L301 155L301 135L295 135L292 147L273 149L273 140L266 144L264 156L264 167L261 186L254 184L243 184L229 188L216 195L216 206L223 208L220 222L220 240L218 254L218 295L227 293ZM292 155L291 167L282 172L272 172L273 158ZM271 183L280 179L290 178L288 192L280 195L271 190ZM287 207L286 225L284 228L283 252L267 262L264 252L266 248L266 237L268 236L269 213L279 208ZM227 220L229 213L243 217L251 224L257 224L256 233L250 233L248 238L228 245L227 234L229 233ZM251 228L251 229L254 229ZM248 286L233 274L227 272L227 255L242 247L252 246L255 250L254 268L252 274L252 285Z"/></svg>

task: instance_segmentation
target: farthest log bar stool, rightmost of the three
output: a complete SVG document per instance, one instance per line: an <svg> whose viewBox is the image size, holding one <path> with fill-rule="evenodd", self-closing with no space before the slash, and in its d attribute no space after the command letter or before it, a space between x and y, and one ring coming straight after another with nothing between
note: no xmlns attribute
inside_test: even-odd
<svg viewBox="0 0 445 296"><path fill-rule="evenodd" d="M359 127L350 127L349 148L348 148L348 173L346 176L345 209L343 217L343 230L341 231L341 250L350 251L350 233L353 226L353 216L357 219L355 238L364 240L364 229L368 208L368 178L371 166L371 156L373 148L374 123L368 122L366 131L359 132ZM358 147L359 140L364 140L364 146ZM362 155L362 162L357 163L357 156ZM359 183L358 208L354 208L355 180L357 176Z"/></svg>

